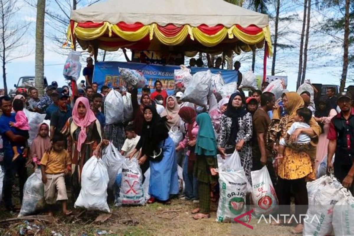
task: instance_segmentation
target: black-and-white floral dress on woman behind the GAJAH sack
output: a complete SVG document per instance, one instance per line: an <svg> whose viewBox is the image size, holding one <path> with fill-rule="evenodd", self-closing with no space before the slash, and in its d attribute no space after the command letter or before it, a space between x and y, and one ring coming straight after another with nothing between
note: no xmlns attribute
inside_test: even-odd
<svg viewBox="0 0 354 236"><path fill-rule="evenodd" d="M232 119L228 116L221 116L220 132L217 140L217 146L227 148L228 140L231 134ZM245 144L239 151L241 165L243 166L246 177L251 183L251 169L252 169L252 145L251 138L253 133L252 116L250 113L239 118L239 131L237 133L236 143L241 139L245 140ZM235 148L235 147L233 147Z"/></svg>

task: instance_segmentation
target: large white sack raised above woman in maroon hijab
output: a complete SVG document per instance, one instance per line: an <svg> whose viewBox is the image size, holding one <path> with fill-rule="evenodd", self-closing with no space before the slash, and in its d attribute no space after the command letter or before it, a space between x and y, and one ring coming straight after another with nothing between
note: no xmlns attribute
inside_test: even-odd
<svg viewBox="0 0 354 236"><path fill-rule="evenodd" d="M181 100L183 102L191 102L202 107L206 107L208 103L208 95L211 86L211 72L200 71L193 75L188 87L183 93Z"/></svg>

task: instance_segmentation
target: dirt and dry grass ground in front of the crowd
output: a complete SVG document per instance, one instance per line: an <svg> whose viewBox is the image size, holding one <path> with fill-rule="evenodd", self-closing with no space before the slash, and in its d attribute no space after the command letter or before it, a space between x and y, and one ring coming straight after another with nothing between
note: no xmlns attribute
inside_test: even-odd
<svg viewBox="0 0 354 236"><path fill-rule="evenodd" d="M210 219L194 220L190 213L194 208L190 201L175 199L169 206L160 203L137 207L110 205L111 215L74 209L70 217L58 211L55 219L39 215L39 219L28 221L4 221L16 215L10 215L0 207L0 235L292 235L291 227L272 226L264 221L257 224L258 219L249 223L253 230L237 223L217 223L216 204L212 205ZM95 221L99 215L104 222Z"/></svg>

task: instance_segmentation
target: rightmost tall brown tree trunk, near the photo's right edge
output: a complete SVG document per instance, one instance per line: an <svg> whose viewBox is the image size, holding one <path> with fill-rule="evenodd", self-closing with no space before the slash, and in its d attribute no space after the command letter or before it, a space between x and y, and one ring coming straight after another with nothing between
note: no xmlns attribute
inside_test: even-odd
<svg viewBox="0 0 354 236"><path fill-rule="evenodd" d="M341 86L339 87L339 92L344 91L344 87L346 86L347 73L348 73L348 53L349 53L349 8L350 8L350 0L346 0L346 13L344 15L344 53L343 53L343 70L342 70L342 78L341 78Z"/></svg>

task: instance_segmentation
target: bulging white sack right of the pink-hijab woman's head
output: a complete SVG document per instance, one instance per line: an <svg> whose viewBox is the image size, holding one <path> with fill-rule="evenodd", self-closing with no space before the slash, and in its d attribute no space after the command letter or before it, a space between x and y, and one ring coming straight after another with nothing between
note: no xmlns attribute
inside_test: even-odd
<svg viewBox="0 0 354 236"><path fill-rule="evenodd" d="M104 116L106 117L106 124L117 124L124 121L124 102L122 95L111 90L104 100Z"/></svg>

